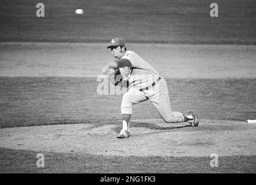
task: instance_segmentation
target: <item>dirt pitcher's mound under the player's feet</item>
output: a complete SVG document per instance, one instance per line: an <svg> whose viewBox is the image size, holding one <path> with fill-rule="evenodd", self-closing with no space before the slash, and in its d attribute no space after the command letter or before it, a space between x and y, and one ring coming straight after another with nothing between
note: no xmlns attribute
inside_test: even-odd
<svg viewBox="0 0 256 185"><path fill-rule="evenodd" d="M136 124L136 127L133 125ZM150 125L150 127L148 127ZM162 120L131 121L131 136L116 139L118 125L45 125L0 129L0 147L116 156L218 156L256 154L256 125L200 120L199 127Z"/></svg>

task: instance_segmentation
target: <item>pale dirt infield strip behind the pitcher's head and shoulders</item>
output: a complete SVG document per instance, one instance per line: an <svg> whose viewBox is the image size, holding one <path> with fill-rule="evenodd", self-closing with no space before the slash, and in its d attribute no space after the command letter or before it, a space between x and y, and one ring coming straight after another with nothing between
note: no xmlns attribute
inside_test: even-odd
<svg viewBox="0 0 256 185"><path fill-rule="evenodd" d="M97 77L108 43L0 43L0 76ZM256 46L130 44L163 77L256 77Z"/></svg>

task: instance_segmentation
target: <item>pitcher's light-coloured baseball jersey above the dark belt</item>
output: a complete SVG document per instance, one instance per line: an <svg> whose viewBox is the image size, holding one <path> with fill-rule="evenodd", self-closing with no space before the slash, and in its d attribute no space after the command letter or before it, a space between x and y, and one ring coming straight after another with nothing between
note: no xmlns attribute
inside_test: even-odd
<svg viewBox="0 0 256 185"><path fill-rule="evenodd" d="M129 60L131 66L119 68L119 71L123 76L123 80L127 80L134 87L145 88L151 86L158 79L159 73L137 53L126 51L122 58Z"/></svg>

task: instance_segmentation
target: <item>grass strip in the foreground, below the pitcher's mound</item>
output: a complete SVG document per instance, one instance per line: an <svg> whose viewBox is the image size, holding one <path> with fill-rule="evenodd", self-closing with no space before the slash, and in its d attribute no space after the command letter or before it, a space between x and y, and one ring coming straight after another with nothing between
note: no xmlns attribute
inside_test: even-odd
<svg viewBox="0 0 256 185"><path fill-rule="evenodd" d="M118 157L43 153L45 167L36 166L36 151L0 148L0 173L255 173L256 156ZM125 164L125 165L123 165Z"/></svg>

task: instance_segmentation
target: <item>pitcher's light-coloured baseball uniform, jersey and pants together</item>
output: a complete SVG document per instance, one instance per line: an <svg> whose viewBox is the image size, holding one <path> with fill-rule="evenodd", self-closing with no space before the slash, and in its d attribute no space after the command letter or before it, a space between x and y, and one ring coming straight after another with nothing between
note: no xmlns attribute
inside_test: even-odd
<svg viewBox="0 0 256 185"><path fill-rule="evenodd" d="M149 100L167 123L184 121L184 115L181 112L171 111L169 91L163 77L160 77L148 62L133 51L126 51L122 58L129 60L131 66L119 68L119 71L124 77L123 80L129 81L133 87L123 95L121 113L131 114L133 105ZM152 86L154 82L155 85ZM145 89L146 87L148 89Z"/></svg>

